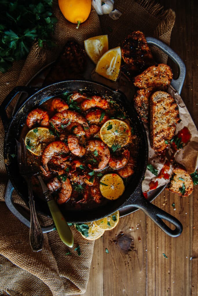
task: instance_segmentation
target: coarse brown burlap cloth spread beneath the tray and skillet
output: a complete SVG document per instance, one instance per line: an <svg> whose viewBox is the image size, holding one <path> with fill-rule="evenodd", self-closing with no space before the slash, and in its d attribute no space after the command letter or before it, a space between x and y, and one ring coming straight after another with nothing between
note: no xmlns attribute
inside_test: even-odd
<svg viewBox="0 0 198 296"><path fill-rule="evenodd" d="M122 12L119 20L108 15L98 17L92 10L86 22L76 30L61 14L54 1L53 11L58 18L52 39L57 47L41 49L34 44L25 61L15 62L13 67L0 75L1 102L15 86L25 85L44 65L56 59L67 40L76 40L81 45L89 37L108 34L109 48L118 46L128 33L140 30L146 36L153 36L170 44L170 35L175 22L175 13L163 11L159 4L150 1L115 1L114 8ZM160 62L167 62L167 56L154 48ZM61 80L61 77L60 77ZM9 106L11 114L16 100ZM57 231L44 234L44 248L35 253L29 245L29 229L7 209L4 202L7 175L3 159L4 128L0 123L0 293L3 295L63 296L86 291L92 260L94 242L82 238L74 226L74 247L71 255L65 255L69 248L64 245ZM21 198L13 192L16 203L26 208ZM39 216L42 225L50 225L52 219ZM80 245L78 256L74 251Z"/></svg>

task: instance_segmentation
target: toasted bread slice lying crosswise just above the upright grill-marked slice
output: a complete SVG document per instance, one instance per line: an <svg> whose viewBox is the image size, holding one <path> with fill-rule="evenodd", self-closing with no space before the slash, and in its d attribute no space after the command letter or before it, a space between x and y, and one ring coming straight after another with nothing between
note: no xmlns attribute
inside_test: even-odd
<svg viewBox="0 0 198 296"><path fill-rule="evenodd" d="M153 87L166 91L173 78L171 68L166 64L154 65L134 78L134 85L139 89Z"/></svg>

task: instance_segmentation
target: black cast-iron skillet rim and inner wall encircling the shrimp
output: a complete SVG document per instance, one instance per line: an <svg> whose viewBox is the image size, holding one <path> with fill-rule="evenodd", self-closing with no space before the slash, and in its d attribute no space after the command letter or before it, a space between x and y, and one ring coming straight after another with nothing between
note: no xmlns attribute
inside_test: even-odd
<svg viewBox="0 0 198 296"><path fill-rule="evenodd" d="M16 157L12 158L11 155L16 154L16 142L20 135L21 128L26 121L28 112L33 108L38 107L47 99L51 97L58 96L64 92L73 92L78 89L82 89L86 92L90 92L98 95L110 96L112 100L117 102L120 109L123 110L127 117L131 121L131 126L134 129L134 133L138 138L138 156L137 156L137 167L135 169L135 176L133 176L132 181L128 184L122 197L115 201L109 202L105 206L99 206L94 210L83 210L83 211L71 211L64 210L63 215L68 222L86 222L100 219L110 213L115 212L117 209L122 207L124 204L130 204L130 197L138 189L141 188L141 183L143 180L144 173L146 171L147 160L148 160L148 141L146 136L146 131L144 129L143 123L141 122L138 114L132 107L132 104L127 101L127 98L120 91L115 91L105 85L95 83L93 81L85 80L69 80L58 82L40 89L32 96L28 97L21 107L16 111L13 116L7 133L5 135L4 142L4 158L7 163L6 169L10 181L12 182L14 188L20 194L22 199L28 205L28 189L27 184L23 177L19 174L19 169L17 165ZM141 197L140 197L141 198ZM47 202L44 197L35 200L36 210L42 214L50 216Z"/></svg>

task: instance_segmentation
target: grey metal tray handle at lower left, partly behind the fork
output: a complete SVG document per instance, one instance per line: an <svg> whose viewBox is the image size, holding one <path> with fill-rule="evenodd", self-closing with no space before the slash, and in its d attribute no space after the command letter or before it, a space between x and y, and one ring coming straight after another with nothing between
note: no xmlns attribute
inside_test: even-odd
<svg viewBox="0 0 198 296"><path fill-rule="evenodd" d="M30 215L27 215L26 211L20 207L17 207L17 205L12 200L12 192L14 190L14 187L12 186L11 181L9 180L6 187L5 192L5 203L9 210L12 212L12 214L15 215L15 217L21 221L23 224L25 224L28 228L30 228ZM27 217L27 218L26 218ZM50 226L44 226L41 227L43 233L50 232L55 229L54 223Z"/></svg>

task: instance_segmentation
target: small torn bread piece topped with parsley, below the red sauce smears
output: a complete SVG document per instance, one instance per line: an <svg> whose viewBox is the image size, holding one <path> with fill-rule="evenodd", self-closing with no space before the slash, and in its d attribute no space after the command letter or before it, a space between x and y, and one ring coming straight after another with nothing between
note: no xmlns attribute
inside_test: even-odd
<svg viewBox="0 0 198 296"><path fill-rule="evenodd" d="M173 168L173 178L170 181L167 190L176 193L180 196L189 196L193 191L193 181L189 173L186 172L185 168L178 163Z"/></svg>

